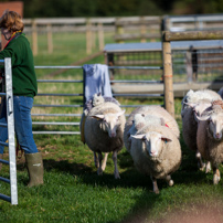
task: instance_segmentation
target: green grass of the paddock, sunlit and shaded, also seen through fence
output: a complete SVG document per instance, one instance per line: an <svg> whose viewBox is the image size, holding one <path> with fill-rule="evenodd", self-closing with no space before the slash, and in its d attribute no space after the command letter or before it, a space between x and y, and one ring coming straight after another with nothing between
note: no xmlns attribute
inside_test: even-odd
<svg viewBox="0 0 223 223"><path fill-rule="evenodd" d="M64 56L70 55L65 53ZM42 60L41 55L35 57L35 64L66 65L73 63L73 60L77 60L70 56L70 59L64 59L62 64L60 59L64 59L62 52L55 53L54 56L43 53ZM89 63L102 61L103 59L99 57ZM50 72L52 71L39 71L38 78L47 78L46 75ZM57 79L74 77L81 78L82 73L67 71L54 76ZM59 86L40 84L39 92L45 91L66 93L82 91L82 87L66 84ZM132 98L131 100L118 98L118 100L121 104L141 105L163 103L162 99L148 100L147 98ZM35 104L38 103L81 104L82 100L78 98L36 97ZM176 98L176 117L182 131L180 103L181 98ZM41 109L34 107L33 113L45 112ZM60 112L59 108L47 110L47 113ZM67 108L64 113L76 113L76 110ZM74 118L68 117L66 120L74 121ZM53 127L44 126L43 128L49 130ZM56 127L56 130L60 128ZM118 155L121 179L115 180L112 156L108 157L104 174L98 177L94 167L93 153L86 145L81 142L79 136L34 135L34 139L43 156L44 184L28 188L24 157L18 159L19 205L11 205L0 200L0 222L161 223L185 222L188 219L190 220L188 222L195 222L195 219L201 219L201 216L206 216L212 222L217 222L219 219L219 222L223 222L222 183L213 185L213 174L205 174L198 170L194 152L185 147L182 136L180 138L182 163L179 170L172 174L174 185L168 187L164 181L158 180L160 189L158 195L152 192L150 178L135 169L132 159L125 148ZM8 150L6 149L4 158L7 159L7 157ZM222 167L221 171L223 171ZM9 178L7 166L3 166L1 176ZM9 185L0 182L0 193L9 195Z"/></svg>

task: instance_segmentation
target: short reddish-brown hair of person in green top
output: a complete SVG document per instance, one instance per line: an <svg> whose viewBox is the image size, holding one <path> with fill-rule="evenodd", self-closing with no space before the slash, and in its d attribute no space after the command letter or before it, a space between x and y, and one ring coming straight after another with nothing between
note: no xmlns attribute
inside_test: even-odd
<svg viewBox="0 0 223 223"><path fill-rule="evenodd" d="M24 23L19 13L6 10L0 18L0 28L8 29L10 32L23 31Z"/></svg>

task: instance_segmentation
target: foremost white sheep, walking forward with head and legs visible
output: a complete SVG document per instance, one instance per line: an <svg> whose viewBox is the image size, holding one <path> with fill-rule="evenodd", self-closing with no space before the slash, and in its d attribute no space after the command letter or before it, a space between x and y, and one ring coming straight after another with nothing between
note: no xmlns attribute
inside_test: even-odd
<svg viewBox="0 0 223 223"><path fill-rule="evenodd" d="M136 168L150 176L155 193L159 193L157 179L166 179L173 185L171 174L179 169L182 155L179 139L170 128L145 126L131 136L130 155Z"/></svg>

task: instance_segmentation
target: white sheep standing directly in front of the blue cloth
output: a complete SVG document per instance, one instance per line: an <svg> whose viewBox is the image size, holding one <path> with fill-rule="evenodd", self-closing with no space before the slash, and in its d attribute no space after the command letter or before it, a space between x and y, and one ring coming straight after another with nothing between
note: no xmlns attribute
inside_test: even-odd
<svg viewBox="0 0 223 223"><path fill-rule="evenodd" d="M117 168L117 152L124 146L123 135L126 123L124 114L125 110L121 110L117 103L114 103L113 99L105 100L100 95L94 95L93 107L84 110L81 121L82 139L94 152L94 161L99 176L105 170L108 152L113 152L115 178L120 178ZM102 152L106 152L103 163ZM96 153L98 153L98 158Z"/></svg>

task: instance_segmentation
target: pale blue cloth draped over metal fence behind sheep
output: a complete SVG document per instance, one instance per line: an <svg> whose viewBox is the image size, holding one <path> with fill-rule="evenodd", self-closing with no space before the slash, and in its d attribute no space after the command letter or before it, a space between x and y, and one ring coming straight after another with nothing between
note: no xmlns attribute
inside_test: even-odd
<svg viewBox="0 0 223 223"><path fill-rule="evenodd" d="M109 72L104 64L85 64L83 66L85 77L85 102L96 93L103 96L113 97Z"/></svg>

